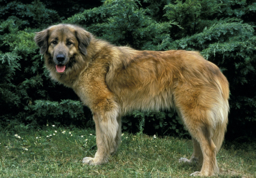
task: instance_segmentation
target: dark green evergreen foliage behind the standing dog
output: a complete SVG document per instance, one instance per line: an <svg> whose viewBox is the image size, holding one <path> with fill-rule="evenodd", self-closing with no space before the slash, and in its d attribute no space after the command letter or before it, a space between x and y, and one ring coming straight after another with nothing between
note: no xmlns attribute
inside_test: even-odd
<svg viewBox="0 0 256 178"><path fill-rule="evenodd" d="M99 38L137 50L197 50L221 68L230 85L227 137L256 134L253 0L0 1L0 124L91 125L72 90L48 77L34 32L79 24ZM184 135L174 112L134 111L123 129ZM80 124L81 125L81 124ZM154 130L154 132L152 131Z"/></svg>

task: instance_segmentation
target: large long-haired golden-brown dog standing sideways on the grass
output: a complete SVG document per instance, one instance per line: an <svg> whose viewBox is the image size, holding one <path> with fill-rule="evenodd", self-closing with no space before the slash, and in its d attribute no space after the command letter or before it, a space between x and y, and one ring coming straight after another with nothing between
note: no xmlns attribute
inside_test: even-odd
<svg viewBox="0 0 256 178"><path fill-rule="evenodd" d="M86 164L103 164L121 142L121 117L141 109L174 108L193 138L192 175L218 173L229 111L226 77L198 52L138 51L96 39L79 26L59 24L35 35L51 77L73 88L94 115L98 150Z"/></svg>

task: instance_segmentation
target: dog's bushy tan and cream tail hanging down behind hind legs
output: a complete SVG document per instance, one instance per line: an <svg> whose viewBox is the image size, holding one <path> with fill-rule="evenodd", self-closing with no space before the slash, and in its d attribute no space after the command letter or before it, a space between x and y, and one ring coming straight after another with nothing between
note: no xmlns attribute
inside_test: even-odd
<svg viewBox="0 0 256 178"><path fill-rule="evenodd" d="M227 130L228 113L229 113L229 83L226 77L217 80L217 85L220 92L220 97L218 99L218 104L216 105L213 113L215 118L215 129L212 136L212 141L216 145L216 152L221 149L223 144L225 132Z"/></svg>

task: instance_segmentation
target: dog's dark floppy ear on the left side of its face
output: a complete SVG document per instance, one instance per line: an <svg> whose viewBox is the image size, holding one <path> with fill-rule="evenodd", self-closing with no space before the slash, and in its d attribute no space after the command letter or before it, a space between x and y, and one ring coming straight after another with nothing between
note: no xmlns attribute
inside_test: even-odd
<svg viewBox="0 0 256 178"><path fill-rule="evenodd" d="M46 53L48 49L48 29L35 33L35 43L40 48L40 54Z"/></svg>

